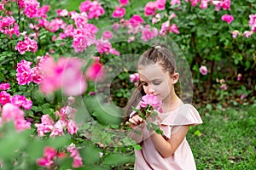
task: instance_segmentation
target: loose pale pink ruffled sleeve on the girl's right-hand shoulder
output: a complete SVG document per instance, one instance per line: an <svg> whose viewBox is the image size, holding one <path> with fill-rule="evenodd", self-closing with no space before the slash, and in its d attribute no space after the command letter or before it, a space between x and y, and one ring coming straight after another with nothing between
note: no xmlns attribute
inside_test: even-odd
<svg viewBox="0 0 256 170"><path fill-rule="evenodd" d="M171 139L172 127L201 124L201 116L193 105L184 104L177 110L172 111L160 123L160 129L163 131L166 138Z"/></svg>

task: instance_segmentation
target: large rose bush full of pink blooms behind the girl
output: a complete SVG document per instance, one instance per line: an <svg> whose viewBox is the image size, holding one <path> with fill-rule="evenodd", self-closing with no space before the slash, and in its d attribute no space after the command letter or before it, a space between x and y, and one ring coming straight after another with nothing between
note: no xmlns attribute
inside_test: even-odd
<svg viewBox="0 0 256 170"><path fill-rule="evenodd" d="M0 167L131 162L133 156L121 155L137 145L120 132L123 112L113 103L125 106L137 77L130 77L136 76L128 69L133 62L118 59L142 54L159 37L171 37L187 57L196 104L249 104L255 92L253 2L2 1ZM113 59L117 75L108 65ZM98 83L108 75L111 84ZM111 95L101 95L107 88Z"/></svg>

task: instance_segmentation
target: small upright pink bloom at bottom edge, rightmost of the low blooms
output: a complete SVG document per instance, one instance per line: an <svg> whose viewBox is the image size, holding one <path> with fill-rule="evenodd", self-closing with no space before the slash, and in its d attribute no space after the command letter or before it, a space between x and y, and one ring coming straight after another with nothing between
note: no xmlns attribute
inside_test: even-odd
<svg viewBox="0 0 256 170"><path fill-rule="evenodd" d="M83 160L82 157L79 154L79 150L76 148L75 144L70 144L67 147L67 151L70 153L70 157L73 158L72 167L82 167L83 166Z"/></svg>

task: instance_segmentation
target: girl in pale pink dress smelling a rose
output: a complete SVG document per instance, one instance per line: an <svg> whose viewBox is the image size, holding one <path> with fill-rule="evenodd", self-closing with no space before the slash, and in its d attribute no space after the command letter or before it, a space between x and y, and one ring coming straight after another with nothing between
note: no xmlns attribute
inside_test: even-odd
<svg viewBox="0 0 256 170"><path fill-rule="evenodd" d="M136 170L178 170L196 169L195 160L186 140L189 126L201 124L201 116L195 107L183 104L174 90L179 74L174 54L165 45L159 44L148 49L138 61L140 82L137 91L126 106L125 122L133 129L132 139L142 150L135 150ZM162 101L162 111L148 120L157 124L162 133L148 129L146 121L131 107L138 108L142 96L156 95Z"/></svg>

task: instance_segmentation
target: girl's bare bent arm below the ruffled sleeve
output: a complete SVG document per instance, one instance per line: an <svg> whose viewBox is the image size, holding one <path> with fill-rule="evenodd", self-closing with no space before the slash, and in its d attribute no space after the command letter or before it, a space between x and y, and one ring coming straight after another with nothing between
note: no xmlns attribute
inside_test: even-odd
<svg viewBox="0 0 256 170"><path fill-rule="evenodd" d="M154 147L159 151L161 156L165 158L172 156L189 131L189 125L180 126L178 128L177 133L173 134L171 139L166 140L161 134L158 133L153 133L151 135Z"/></svg>

